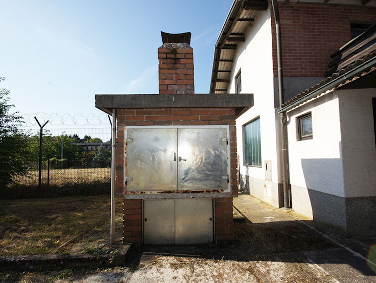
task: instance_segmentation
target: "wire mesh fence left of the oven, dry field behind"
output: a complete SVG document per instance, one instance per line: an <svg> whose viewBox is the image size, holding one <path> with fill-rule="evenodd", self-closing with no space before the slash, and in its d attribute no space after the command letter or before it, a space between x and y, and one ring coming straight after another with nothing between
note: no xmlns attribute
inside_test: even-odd
<svg viewBox="0 0 376 283"><path fill-rule="evenodd" d="M5 198L96 195L111 191L111 126L43 129L39 185L39 132L26 131L27 175L16 176Z"/></svg>

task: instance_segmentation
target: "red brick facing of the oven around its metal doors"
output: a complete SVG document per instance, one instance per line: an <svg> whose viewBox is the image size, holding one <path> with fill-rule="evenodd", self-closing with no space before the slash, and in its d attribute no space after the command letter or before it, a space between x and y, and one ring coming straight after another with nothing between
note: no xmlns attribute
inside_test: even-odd
<svg viewBox="0 0 376 283"><path fill-rule="evenodd" d="M152 125L229 125L230 127L230 172L231 194L237 195L237 145L234 108L156 108L118 109L116 139L116 193L123 198L125 188L126 146L124 129L126 126ZM141 200L124 199L124 242L141 242ZM215 227L217 240L233 239L232 197L215 199Z"/></svg>

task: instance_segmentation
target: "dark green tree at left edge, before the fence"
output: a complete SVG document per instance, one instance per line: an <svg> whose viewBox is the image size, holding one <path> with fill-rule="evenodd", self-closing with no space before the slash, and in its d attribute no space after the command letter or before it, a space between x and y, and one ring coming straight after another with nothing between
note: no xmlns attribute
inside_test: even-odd
<svg viewBox="0 0 376 283"><path fill-rule="evenodd" d="M4 78L0 77L0 82ZM0 88L0 188L4 189L17 175L26 175L23 166L27 151L27 135L19 129L22 117L9 113L9 91Z"/></svg>

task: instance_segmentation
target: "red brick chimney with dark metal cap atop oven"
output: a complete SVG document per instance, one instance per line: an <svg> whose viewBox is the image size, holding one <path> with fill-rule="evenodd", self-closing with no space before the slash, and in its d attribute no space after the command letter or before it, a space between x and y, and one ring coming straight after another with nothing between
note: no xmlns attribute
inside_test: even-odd
<svg viewBox="0 0 376 283"><path fill-rule="evenodd" d="M193 49L191 33L162 32L158 48L159 93L194 94Z"/></svg>

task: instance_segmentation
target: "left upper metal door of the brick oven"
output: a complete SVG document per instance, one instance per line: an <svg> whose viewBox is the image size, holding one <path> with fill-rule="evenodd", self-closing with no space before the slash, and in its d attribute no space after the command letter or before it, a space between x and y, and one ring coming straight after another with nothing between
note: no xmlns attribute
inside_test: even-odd
<svg viewBox="0 0 376 283"><path fill-rule="evenodd" d="M176 128L127 130L127 190L177 190Z"/></svg>

